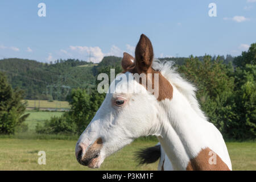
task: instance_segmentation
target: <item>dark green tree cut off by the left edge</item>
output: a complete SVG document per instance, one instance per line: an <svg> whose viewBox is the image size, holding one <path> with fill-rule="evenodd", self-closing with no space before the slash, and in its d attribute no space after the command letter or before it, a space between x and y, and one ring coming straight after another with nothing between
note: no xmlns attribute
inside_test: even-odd
<svg viewBox="0 0 256 182"><path fill-rule="evenodd" d="M24 92L13 90L6 76L0 72L0 133L14 134L29 114L24 114L26 103L22 103Z"/></svg>

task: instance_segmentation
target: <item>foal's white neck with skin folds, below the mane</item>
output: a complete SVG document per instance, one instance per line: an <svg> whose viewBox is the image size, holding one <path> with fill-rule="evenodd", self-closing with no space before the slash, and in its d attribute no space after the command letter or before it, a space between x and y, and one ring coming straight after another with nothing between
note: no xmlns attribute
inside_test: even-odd
<svg viewBox="0 0 256 182"><path fill-rule="evenodd" d="M172 100L161 101L161 105L159 142L174 169L184 170L189 160L207 147L204 127L208 122L196 113L175 87Z"/></svg>

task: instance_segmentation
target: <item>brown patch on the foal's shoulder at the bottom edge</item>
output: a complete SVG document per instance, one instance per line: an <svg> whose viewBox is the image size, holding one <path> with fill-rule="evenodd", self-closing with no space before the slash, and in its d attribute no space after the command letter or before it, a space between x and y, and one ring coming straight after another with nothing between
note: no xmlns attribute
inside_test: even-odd
<svg viewBox="0 0 256 182"><path fill-rule="evenodd" d="M209 155L210 150L209 147L204 148L199 152L199 154L191 159L187 166L187 171L230 171L229 167L221 160L220 156L216 153L216 164L210 164L209 160L212 155Z"/></svg>

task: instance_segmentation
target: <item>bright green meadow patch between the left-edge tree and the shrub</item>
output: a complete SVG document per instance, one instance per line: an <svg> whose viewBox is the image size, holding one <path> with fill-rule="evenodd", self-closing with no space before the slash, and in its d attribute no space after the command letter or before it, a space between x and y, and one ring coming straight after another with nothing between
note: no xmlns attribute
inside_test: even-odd
<svg viewBox="0 0 256 182"><path fill-rule="evenodd" d="M24 123L28 124L28 131L35 131L37 123L44 122L53 116L60 116L64 112L47 112L47 111L26 111L25 114L30 114Z"/></svg>

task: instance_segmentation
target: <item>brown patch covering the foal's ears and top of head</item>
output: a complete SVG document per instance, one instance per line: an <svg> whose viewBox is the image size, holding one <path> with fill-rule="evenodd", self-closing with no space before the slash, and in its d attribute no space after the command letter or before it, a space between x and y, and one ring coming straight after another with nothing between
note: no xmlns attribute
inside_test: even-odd
<svg viewBox="0 0 256 182"><path fill-rule="evenodd" d="M147 38L146 35L142 34L141 39L139 39L139 42L135 49L135 63L132 63L132 61L129 61L131 59L131 55L128 53L123 53L123 59L122 59L122 67L126 68L124 69L123 73L125 72L131 72L133 74L138 73L144 73L146 75L146 85L143 85L146 89L148 89L148 83L152 84L150 88L155 89L155 83L154 83L154 74L158 74L159 82L158 82L158 101L162 101L166 98L172 99L172 93L173 88L170 82L160 73L159 71L155 71L151 68L153 58L154 58L154 52L153 47L150 42L150 39ZM123 66L125 65L125 66ZM148 73L151 73L151 79L148 77ZM142 84L141 79L139 80L139 83ZM148 90L149 91L149 90ZM154 93L152 93L154 94Z"/></svg>

